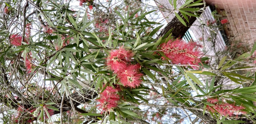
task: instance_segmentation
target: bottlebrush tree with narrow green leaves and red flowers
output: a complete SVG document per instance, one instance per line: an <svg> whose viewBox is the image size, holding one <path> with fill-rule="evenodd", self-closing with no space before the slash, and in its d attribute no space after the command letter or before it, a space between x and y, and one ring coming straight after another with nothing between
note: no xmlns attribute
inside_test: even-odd
<svg viewBox="0 0 256 124"><path fill-rule="evenodd" d="M143 2L2 2L0 121L255 123L256 45L209 66L200 42L158 37L147 18L164 8ZM204 4L170 2L184 17Z"/></svg>

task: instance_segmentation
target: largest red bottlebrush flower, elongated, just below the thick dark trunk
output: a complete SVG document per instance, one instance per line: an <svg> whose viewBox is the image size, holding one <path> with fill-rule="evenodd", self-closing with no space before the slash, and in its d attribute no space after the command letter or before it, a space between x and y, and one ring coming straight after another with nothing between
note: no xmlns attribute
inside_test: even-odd
<svg viewBox="0 0 256 124"><path fill-rule="evenodd" d="M192 68L198 69L193 66L201 62L198 57L201 56L201 51L195 42L186 43L182 39L170 40L167 43L160 45L161 51L165 53L174 64L191 65Z"/></svg>

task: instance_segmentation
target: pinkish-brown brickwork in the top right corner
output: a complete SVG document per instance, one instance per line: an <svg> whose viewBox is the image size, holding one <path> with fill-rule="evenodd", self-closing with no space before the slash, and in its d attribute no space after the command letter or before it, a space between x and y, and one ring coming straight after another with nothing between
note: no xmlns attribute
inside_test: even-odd
<svg viewBox="0 0 256 124"><path fill-rule="evenodd" d="M256 40L256 0L207 0L224 13L230 38L253 44Z"/></svg>

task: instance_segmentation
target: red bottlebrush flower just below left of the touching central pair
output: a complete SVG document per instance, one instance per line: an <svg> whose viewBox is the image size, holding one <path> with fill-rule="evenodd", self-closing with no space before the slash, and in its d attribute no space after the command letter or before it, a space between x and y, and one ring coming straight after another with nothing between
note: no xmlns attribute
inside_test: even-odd
<svg viewBox="0 0 256 124"><path fill-rule="evenodd" d="M118 88L114 89L111 86L107 86L107 88L100 94L100 99L97 99L100 104L96 106L102 109L101 114L104 111L113 111L113 108L118 106L118 101L120 99L116 93L118 91Z"/></svg>

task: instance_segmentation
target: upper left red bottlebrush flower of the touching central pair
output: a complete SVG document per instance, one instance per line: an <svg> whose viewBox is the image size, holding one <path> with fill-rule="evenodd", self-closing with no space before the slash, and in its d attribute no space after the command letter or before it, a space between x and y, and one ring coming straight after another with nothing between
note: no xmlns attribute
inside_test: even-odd
<svg viewBox="0 0 256 124"><path fill-rule="evenodd" d="M133 55L132 51L125 50L123 46L117 50L111 50L109 57L106 58L106 65L110 70L117 72L126 67L126 62L129 62Z"/></svg>

